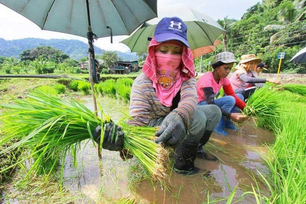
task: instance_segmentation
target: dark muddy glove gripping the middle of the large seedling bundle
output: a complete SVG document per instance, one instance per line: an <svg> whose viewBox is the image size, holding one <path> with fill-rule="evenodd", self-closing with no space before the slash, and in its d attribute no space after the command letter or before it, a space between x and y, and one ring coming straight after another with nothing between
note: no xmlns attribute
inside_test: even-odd
<svg viewBox="0 0 306 204"><path fill-rule="evenodd" d="M106 124L102 148L110 151L119 151L123 149L123 135L124 132L121 131L121 127L115 125L114 123L108 122ZM114 130L114 134L113 134ZM92 133L92 136L98 144L100 143L100 136L101 136L101 125L99 125ZM116 138L118 137L117 141Z"/></svg>

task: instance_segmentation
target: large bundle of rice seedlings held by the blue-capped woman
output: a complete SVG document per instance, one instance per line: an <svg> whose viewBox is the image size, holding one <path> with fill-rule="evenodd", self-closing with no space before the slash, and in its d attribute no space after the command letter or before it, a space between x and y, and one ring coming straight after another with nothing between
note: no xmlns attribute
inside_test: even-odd
<svg viewBox="0 0 306 204"><path fill-rule="evenodd" d="M36 171L38 166L44 166L46 160L52 161L52 166L48 164L46 168L50 174L57 167L59 159L64 161L68 152L73 155L77 167L77 149L84 140L91 139L95 144L91 132L98 125L103 126L102 118L96 117L95 113L74 99L62 99L41 91L33 91L27 97L32 100L15 98L13 104L0 105L9 110L0 116L0 134L4 135L0 139L0 145L11 139L18 139L18 142L2 150L0 154L21 147L31 150L28 156L0 172L35 158L27 176ZM129 126L125 121L121 121L119 125L125 132L124 148L140 161L153 179L165 178L168 153L152 141L156 128ZM104 131L101 131L101 134L103 133ZM101 140L100 145L102 142Z"/></svg>

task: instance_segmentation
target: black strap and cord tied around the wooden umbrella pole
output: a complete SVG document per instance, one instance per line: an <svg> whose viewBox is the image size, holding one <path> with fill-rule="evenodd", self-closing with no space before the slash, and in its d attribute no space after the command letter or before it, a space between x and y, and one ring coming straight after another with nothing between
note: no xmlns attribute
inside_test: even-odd
<svg viewBox="0 0 306 204"><path fill-rule="evenodd" d="M99 63L95 59L95 48L94 48L94 39L97 40L98 36L94 34L92 31L87 32L87 39L90 48L88 48L88 52L91 53L91 69L92 69L92 79L95 83L100 82L100 70L99 70Z"/></svg>

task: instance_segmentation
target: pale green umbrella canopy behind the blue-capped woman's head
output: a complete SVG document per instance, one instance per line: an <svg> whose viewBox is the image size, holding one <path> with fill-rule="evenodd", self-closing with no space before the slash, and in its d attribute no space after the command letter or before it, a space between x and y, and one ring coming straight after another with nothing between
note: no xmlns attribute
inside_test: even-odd
<svg viewBox="0 0 306 204"><path fill-rule="evenodd" d="M184 4L165 6L158 10L158 18L142 24L130 37L121 41L131 52L147 52L148 37L154 35L158 22L163 17L179 17L187 25L187 40L191 50L213 45L223 32L223 28L211 17L190 9Z"/></svg>

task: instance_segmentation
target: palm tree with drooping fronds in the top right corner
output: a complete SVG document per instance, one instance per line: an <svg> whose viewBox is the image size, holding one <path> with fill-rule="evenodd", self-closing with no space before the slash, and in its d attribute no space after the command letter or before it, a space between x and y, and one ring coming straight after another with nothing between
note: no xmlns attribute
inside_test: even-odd
<svg viewBox="0 0 306 204"><path fill-rule="evenodd" d="M278 20L283 23L282 24L270 24L267 25L263 30L275 30L278 31L270 38L270 43L273 43L275 39L281 39L285 33L285 28L288 24L293 22L300 21L304 14L306 14L306 10L304 7L306 6L306 0L295 0L294 2L283 2L280 5L280 10L278 11ZM303 11L304 10L304 11ZM280 37L277 37L280 36Z"/></svg>

